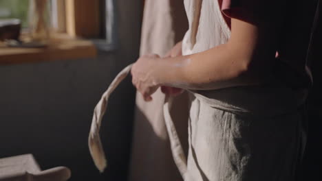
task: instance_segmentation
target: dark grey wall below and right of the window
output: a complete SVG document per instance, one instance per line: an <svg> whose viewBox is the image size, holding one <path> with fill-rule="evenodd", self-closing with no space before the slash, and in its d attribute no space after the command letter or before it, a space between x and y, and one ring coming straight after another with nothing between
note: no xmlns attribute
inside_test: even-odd
<svg viewBox="0 0 322 181"><path fill-rule="evenodd" d="M100 174L87 136L94 106L118 71L138 58L140 1L118 1L118 49L98 58L0 67L0 158L34 154L41 169L63 165L71 180L126 180L135 90L120 84L103 119L108 167Z"/></svg>

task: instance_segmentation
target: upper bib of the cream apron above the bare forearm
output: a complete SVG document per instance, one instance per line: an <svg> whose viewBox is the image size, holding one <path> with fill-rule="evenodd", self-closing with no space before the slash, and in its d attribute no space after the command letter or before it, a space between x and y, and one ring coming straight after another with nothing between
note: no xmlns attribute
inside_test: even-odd
<svg viewBox="0 0 322 181"><path fill-rule="evenodd" d="M194 17L199 2L201 3L200 17ZM224 21L218 1L184 0L184 6L189 21L189 30L182 41L183 55L206 51L228 41L230 29ZM198 19L198 23L193 22ZM197 31L193 37L191 35L195 29Z"/></svg>

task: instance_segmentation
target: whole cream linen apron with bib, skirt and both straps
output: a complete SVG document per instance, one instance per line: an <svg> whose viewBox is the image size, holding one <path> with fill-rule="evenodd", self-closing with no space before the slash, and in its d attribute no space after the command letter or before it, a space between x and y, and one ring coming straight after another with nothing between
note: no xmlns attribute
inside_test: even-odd
<svg viewBox="0 0 322 181"><path fill-rule="evenodd" d="M189 19L184 55L227 42L230 30L218 1L185 0L184 5ZM200 17L195 18L196 14ZM130 69L131 65L118 74L94 110L89 149L100 171L106 167L98 136L100 121L109 95ZM173 160L184 180L294 180L302 119L300 93L283 84L188 91L187 158L170 112L172 97L165 99L163 109Z"/></svg>

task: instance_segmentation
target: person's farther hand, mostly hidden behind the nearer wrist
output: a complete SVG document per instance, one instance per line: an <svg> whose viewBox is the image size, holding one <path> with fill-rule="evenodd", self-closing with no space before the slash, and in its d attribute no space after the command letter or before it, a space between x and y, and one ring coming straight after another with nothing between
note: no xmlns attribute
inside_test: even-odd
<svg viewBox="0 0 322 181"><path fill-rule="evenodd" d="M182 56L182 41L177 43L167 54L164 58L173 58L177 56ZM171 86L161 86L162 93L171 96L180 95L184 90L182 88L175 88Z"/></svg>

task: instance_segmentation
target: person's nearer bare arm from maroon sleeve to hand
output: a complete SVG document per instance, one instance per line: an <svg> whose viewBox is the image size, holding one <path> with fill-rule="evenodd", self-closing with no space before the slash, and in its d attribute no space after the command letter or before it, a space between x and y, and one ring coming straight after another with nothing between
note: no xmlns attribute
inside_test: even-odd
<svg viewBox="0 0 322 181"><path fill-rule="evenodd" d="M276 52L274 28L237 19L231 22L226 44L189 56L142 56L131 69L133 84L151 99L158 86L205 90L270 81Z"/></svg>

